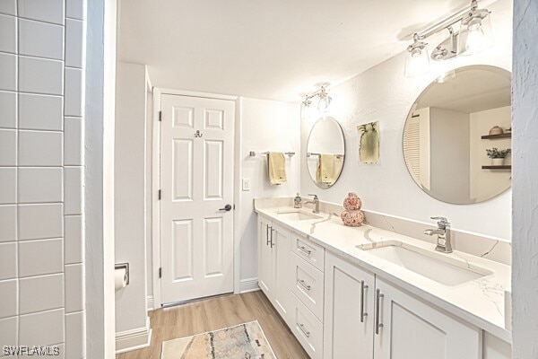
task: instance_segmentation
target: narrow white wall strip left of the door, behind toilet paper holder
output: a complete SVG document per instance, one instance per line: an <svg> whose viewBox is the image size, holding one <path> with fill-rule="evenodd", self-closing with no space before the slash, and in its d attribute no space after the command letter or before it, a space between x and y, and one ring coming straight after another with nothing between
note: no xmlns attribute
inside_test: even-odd
<svg viewBox="0 0 538 359"><path fill-rule="evenodd" d="M116 96L115 257L116 263L129 263L130 282L116 291L121 335L145 328L147 317L145 66L117 63Z"/></svg>

